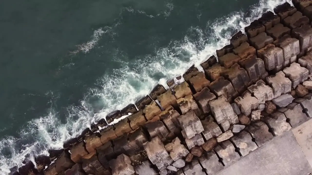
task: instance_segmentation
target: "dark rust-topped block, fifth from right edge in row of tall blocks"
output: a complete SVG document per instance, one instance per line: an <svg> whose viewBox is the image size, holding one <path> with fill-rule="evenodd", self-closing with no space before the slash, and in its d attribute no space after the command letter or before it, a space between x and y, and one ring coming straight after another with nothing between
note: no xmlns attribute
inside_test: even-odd
<svg viewBox="0 0 312 175"><path fill-rule="evenodd" d="M251 84L246 70L241 68L238 64L234 64L231 68L227 69L227 71L223 73L223 76L229 79L234 89L239 93Z"/></svg>

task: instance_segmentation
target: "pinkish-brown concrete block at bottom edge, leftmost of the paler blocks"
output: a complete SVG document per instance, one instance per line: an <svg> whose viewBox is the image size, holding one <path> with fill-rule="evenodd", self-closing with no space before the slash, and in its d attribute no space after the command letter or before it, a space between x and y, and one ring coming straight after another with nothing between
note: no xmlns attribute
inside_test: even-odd
<svg viewBox="0 0 312 175"><path fill-rule="evenodd" d="M131 160L125 154L120 154L109 162L113 175L129 175L135 173Z"/></svg>

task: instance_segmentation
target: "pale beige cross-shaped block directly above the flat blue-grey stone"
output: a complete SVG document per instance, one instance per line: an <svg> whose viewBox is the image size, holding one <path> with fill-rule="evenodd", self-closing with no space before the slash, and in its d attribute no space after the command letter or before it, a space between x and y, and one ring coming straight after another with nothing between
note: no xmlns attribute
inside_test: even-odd
<svg viewBox="0 0 312 175"><path fill-rule="evenodd" d="M282 71L266 77L266 83L272 87L274 98L291 91L291 81L285 77L285 73Z"/></svg>

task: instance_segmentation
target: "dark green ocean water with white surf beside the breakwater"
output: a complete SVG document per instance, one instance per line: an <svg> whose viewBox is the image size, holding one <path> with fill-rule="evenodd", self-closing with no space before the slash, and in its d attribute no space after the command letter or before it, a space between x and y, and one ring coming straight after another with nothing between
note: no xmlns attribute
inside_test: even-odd
<svg viewBox="0 0 312 175"><path fill-rule="evenodd" d="M0 2L0 174L199 66L290 0Z"/></svg>

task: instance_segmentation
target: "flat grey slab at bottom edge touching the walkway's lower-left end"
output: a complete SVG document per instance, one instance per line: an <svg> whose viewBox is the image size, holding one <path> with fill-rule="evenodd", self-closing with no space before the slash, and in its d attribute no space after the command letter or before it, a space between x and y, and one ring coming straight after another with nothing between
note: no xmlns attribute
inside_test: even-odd
<svg viewBox="0 0 312 175"><path fill-rule="evenodd" d="M199 158L199 161L209 175L216 175L224 168L214 151L204 153L202 157Z"/></svg>

